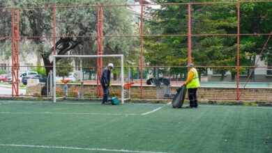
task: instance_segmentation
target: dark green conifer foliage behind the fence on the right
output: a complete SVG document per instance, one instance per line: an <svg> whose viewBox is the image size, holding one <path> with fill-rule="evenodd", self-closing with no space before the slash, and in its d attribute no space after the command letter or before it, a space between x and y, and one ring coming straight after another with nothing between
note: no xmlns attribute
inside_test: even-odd
<svg viewBox="0 0 272 153"><path fill-rule="evenodd" d="M196 1L183 0L153 0L155 3L186 3ZM206 1L197 1L206 2ZM211 1L209 1L211 2ZM272 3L242 3L241 33L271 33ZM149 8L152 19L147 24L150 33L157 35L187 34L188 5L161 5L160 8ZM258 23L258 24L256 24ZM270 23L270 24L269 24ZM221 74L224 79L227 71L236 74L236 34L237 6L236 3L192 4L191 5L192 34L222 34L223 36L192 36L192 62L195 65L214 66L212 69ZM252 66L252 58L259 54L267 36L247 36L240 38L240 65ZM187 37L172 36L146 39L148 51L146 62L151 65L186 65ZM269 60L270 48L267 47L262 58ZM165 62L165 63L163 63ZM221 67L225 66L225 67ZM232 66L232 67L229 67ZM244 67L239 70L246 72ZM205 72L200 69L200 72ZM176 73L174 71L174 73ZM233 78L234 79L234 78Z"/></svg>

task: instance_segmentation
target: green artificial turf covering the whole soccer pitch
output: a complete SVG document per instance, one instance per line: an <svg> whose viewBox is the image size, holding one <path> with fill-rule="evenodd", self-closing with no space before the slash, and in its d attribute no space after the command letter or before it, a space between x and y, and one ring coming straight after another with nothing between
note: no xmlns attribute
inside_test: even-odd
<svg viewBox="0 0 272 153"><path fill-rule="evenodd" d="M271 116L257 106L0 101L0 152L272 152Z"/></svg>

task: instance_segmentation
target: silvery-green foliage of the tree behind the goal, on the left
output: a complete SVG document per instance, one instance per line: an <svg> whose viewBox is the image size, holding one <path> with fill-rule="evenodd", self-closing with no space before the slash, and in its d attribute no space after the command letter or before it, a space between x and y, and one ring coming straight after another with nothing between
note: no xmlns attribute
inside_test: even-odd
<svg viewBox="0 0 272 153"><path fill-rule="evenodd" d="M53 35L53 8L52 6L90 6L90 7L61 7L56 8L56 53L96 55L96 34L97 34L97 8L91 5L103 4L124 4L123 0L61 0L61 1L1 1L2 7L20 7L20 35L22 37L34 37L23 39L27 45L33 46L43 58L48 73L52 70L52 38L37 38L38 36ZM47 6L48 8L31 8L31 6ZM29 8L27 8L29 7ZM2 10L3 13L6 10ZM10 13L10 12L8 12ZM1 21L10 22L10 15L5 18L1 13ZM6 21L6 22L5 22ZM132 17L126 7L103 7L103 35L132 35ZM1 35L4 28L0 24ZM7 32L10 33L10 32ZM80 36L80 37L76 37ZM90 38L86 38L89 36ZM103 54L125 54L133 50L133 39L119 40L116 38L103 39ZM42 49L41 49L42 48ZM33 51L32 50L32 51ZM60 60L59 58L58 60ZM95 65L95 63L90 63Z"/></svg>

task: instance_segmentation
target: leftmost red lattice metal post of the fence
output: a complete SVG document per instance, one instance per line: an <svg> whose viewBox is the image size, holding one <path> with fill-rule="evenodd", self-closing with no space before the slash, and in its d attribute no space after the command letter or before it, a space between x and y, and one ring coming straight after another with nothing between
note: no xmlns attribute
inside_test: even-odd
<svg viewBox="0 0 272 153"><path fill-rule="evenodd" d="M12 9L12 95L19 95L19 8L16 10L16 22L15 22L15 10Z"/></svg>

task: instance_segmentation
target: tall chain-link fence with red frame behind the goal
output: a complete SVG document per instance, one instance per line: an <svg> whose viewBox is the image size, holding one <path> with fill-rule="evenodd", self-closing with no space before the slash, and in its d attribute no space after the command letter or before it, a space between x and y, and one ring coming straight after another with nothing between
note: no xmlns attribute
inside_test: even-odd
<svg viewBox="0 0 272 153"><path fill-rule="evenodd" d="M187 79L187 63L197 68L202 99L251 99L250 92L271 89L271 1L143 2L0 3L0 96L47 96L42 93L47 81L24 85L21 75L33 72L45 80L54 54L123 54L132 98L171 98ZM116 60L84 61L83 67L92 67L84 81L96 87L91 80L107 63L120 66ZM59 70L67 65L66 77L79 74L79 61L66 61ZM118 70L112 77L117 86ZM270 99L267 92L252 99Z"/></svg>

